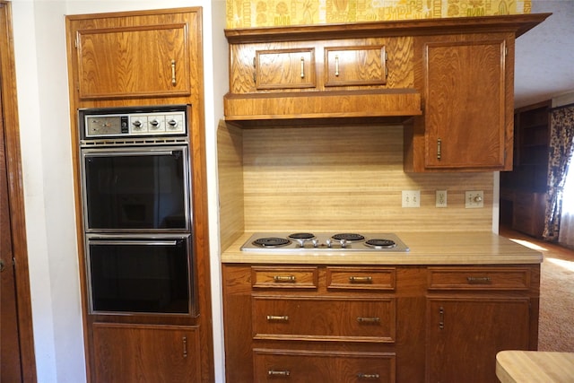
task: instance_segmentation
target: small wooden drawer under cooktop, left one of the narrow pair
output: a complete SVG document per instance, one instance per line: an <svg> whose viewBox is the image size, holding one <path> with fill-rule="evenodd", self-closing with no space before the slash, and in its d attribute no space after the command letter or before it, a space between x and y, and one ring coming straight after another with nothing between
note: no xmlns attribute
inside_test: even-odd
<svg viewBox="0 0 574 383"><path fill-rule="evenodd" d="M318 268L300 267L251 267L251 284L254 288L317 289Z"/></svg>

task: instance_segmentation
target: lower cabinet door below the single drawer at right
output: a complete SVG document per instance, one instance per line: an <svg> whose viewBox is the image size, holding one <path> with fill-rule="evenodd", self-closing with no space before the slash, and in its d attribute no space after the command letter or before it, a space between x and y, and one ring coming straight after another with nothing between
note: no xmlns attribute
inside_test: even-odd
<svg viewBox="0 0 574 383"><path fill-rule="evenodd" d="M427 382L497 383L496 353L527 350L528 299L430 299Z"/></svg>

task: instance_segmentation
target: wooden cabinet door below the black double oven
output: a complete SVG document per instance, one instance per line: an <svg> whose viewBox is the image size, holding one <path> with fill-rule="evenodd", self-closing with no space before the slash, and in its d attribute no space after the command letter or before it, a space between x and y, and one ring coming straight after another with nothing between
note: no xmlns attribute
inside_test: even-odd
<svg viewBox="0 0 574 383"><path fill-rule="evenodd" d="M196 327L94 323L95 381L199 382Z"/></svg>

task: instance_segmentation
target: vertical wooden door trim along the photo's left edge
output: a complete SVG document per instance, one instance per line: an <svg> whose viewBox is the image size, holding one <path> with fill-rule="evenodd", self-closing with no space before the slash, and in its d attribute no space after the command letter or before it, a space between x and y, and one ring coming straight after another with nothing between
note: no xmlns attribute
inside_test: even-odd
<svg viewBox="0 0 574 383"><path fill-rule="evenodd" d="M10 222L13 241L13 257L16 262L15 278L23 381L36 382L36 357L32 330L30 301L30 276L28 272L28 248L24 217L24 193L22 186L22 156L20 152L20 127L16 97L16 71L13 54L12 4L0 1L0 74L2 82L2 109L4 110L4 141L6 167L8 170L8 195L10 197Z"/></svg>

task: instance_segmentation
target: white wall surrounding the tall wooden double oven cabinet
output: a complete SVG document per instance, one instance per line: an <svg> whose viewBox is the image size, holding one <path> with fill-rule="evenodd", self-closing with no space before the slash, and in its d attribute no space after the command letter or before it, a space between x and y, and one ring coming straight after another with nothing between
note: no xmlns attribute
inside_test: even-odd
<svg viewBox="0 0 574 383"><path fill-rule="evenodd" d="M22 177L39 383L86 380L74 222L73 148L68 119L65 14L183 6L204 8L214 360L215 379L223 381L215 127L222 117L222 95L228 87L226 40L222 32L225 0L13 0Z"/></svg>

